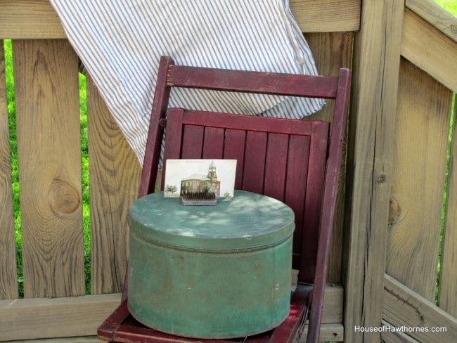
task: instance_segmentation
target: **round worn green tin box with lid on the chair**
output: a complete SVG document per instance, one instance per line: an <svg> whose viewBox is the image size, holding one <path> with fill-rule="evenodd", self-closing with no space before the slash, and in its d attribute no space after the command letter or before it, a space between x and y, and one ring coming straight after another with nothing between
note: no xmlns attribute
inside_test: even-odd
<svg viewBox="0 0 457 343"><path fill-rule="evenodd" d="M199 338L263 332L289 312L294 214L236 191L215 206L154 193L129 211L129 310L157 330Z"/></svg>

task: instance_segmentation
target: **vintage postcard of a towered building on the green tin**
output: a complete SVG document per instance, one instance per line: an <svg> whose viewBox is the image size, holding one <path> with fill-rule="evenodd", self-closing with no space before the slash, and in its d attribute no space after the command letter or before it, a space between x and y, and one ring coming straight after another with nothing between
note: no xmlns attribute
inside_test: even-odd
<svg viewBox="0 0 457 343"><path fill-rule="evenodd" d="M167 160L166 163L165 197L195 193L233 197L236 160Z"/></svg>

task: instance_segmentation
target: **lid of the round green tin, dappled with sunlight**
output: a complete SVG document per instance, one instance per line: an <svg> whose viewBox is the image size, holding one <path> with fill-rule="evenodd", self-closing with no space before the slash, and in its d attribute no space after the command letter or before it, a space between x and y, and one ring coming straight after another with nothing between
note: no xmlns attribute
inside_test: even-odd
<svg viewBox="0 0 457 343"><path fill-rule="evenodd" d="M129 209L131 235L195 250L247 250L276 245L292 235L292 209L276 199L236 190L214 206L184 206L162 192Z"/></svg>

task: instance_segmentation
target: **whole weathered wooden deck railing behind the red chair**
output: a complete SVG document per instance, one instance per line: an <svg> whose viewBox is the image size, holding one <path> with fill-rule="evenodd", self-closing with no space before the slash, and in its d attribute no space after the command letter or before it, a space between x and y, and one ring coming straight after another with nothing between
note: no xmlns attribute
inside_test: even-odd
<svg viewBox="0 0 457 343"><path fill-rule="evenodd" d="M290 6L318 71L353 72L347 186L340 190L321 338L451 342L456 140L448 183L445 171L457 90L456 18L428 0L291 0ZM13 39L25 295L17 299L0 48L0 341L95 335L120 302L139 163L88 77L91 295L84 295L77 56L48 0L0 0L0 39ZM313 117L326 119L329 110ZM354 330L381 323L447 330Z"/></svg>

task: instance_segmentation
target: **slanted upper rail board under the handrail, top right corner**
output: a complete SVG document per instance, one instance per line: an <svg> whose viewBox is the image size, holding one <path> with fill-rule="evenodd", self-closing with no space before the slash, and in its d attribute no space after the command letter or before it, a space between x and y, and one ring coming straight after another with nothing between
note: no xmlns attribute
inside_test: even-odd
<svg viewBox="0 0 457 343"><path fill-rule="evenodd" d="M405 10L401 55L457 91L457 44L418 15ZM425 48L426 47L426 48Z"/></svg>

